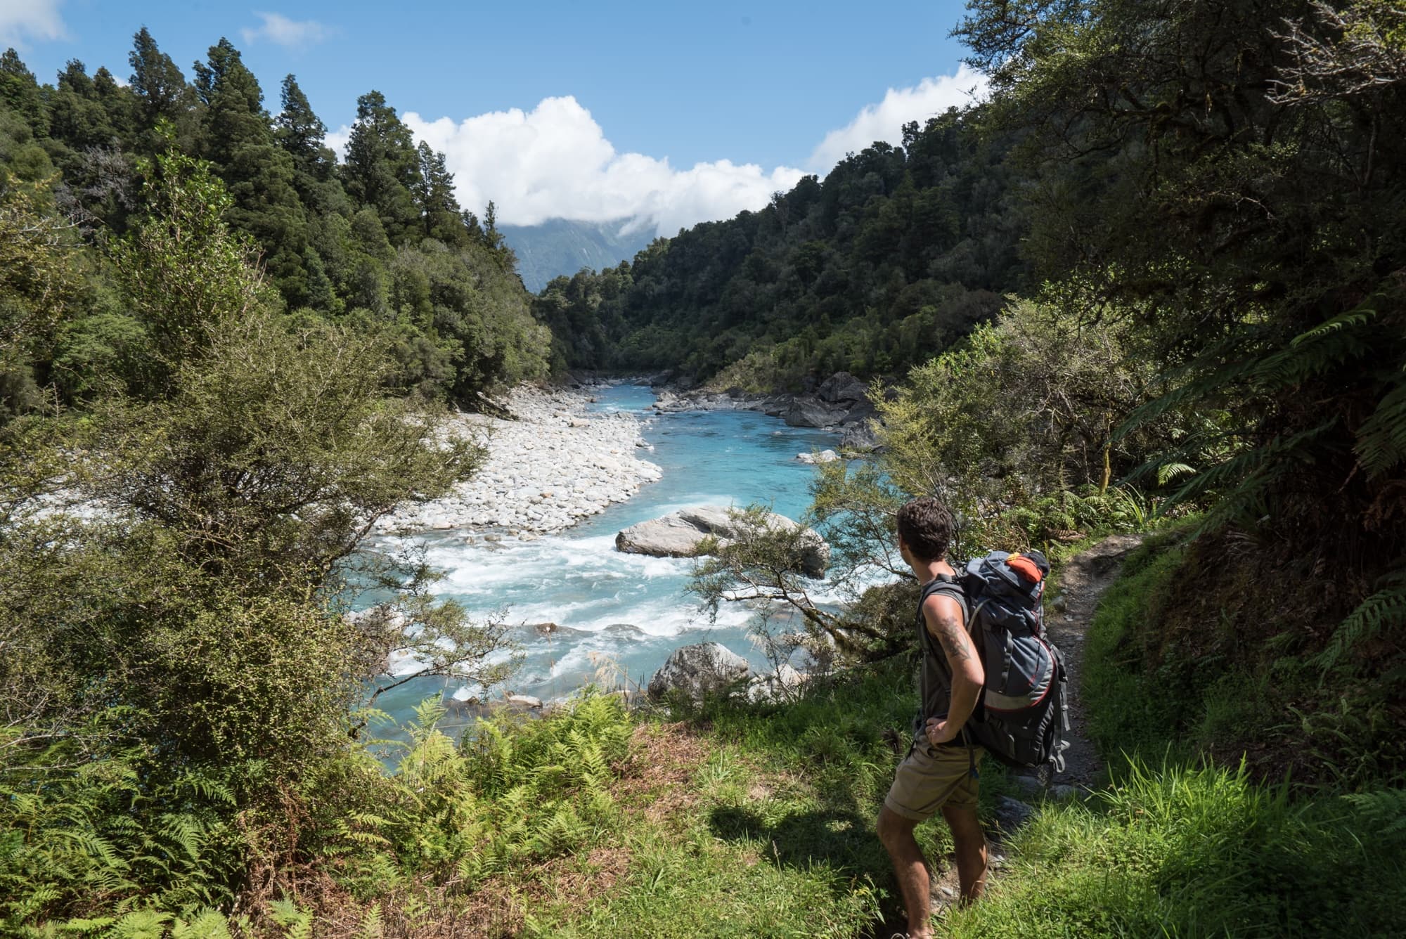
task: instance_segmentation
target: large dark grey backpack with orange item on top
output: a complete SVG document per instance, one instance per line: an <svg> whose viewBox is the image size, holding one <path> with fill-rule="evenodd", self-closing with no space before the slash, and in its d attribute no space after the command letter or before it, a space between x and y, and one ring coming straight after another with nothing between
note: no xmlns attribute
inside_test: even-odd
<svg viewBox="0 0 1406 939"><path fill-rule="evenodd" d="M993 551L955 579L970 610L967 630L986 671L963 737L1008 766L1064 769L1064 659L1045 635L1045 576L1039 551ZM942 578L943 581L952 581Z"/></svg>

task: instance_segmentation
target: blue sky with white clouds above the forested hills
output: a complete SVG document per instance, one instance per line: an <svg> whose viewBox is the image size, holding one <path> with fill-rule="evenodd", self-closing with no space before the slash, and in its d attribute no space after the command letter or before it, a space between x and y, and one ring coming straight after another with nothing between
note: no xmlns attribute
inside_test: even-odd
<svg viewBox="0 0 1406 939"><path fill-rule="evenodd" d="M617 212L630 201L621 193L633 177L643 174L637 188L665 186L664 166L683 177L669 177L665 188L673 194L665 201L700 187L675 212L682 221L731 214L738 200L755 201L768 186L785 188L801 170L827 170L844 149L868 143L865 134L897 139L903 119L955 103L956 91L979 79L965 75L962 89L932 80L957 72L962 49L948 32L962 7L0 0L0 44L17 45L41 82L52 82L72 58L125 79L132 34L145 24L190 77L191 63L228 37L259 76L271 111L288 72L333 131L350 124L359 94L382 91L420 121L412 122L418 134L446 150L470 205L495 197L486 190L496 186L506 190L498 201L509 215L533 221L554 202L529 207L529 197L575 152L605 160L598 176L617 191L578 205L565 190L592 186L595 177L568 171L557 184L562 195L554 197L560 214ZM554 100L569 104L538 107ZM868 121L865 108L872 108ZM494 114L506 117L463 124ZM520 119L508 119L515 114ZM437 132L426 129L436 121ZM537 177L509 180L510 171L522 173L510 164L524 139L543 136L555 139L548 153L520 160ZM485 148L498 153L496 163ZM631 155L648 163L624 159ZM745 166L755 170L749 179ZM641 211L668 228L673 219L658 202Z"/></svg>

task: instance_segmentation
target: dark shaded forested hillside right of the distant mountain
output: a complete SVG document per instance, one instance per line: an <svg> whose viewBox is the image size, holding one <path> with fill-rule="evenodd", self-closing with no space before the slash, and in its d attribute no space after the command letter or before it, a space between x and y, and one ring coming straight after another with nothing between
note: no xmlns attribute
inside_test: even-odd
<svg viewBox="0 0 1406 939"><path fill-rule="evenodd" d="M553 365L678 368L796 389L806 377L898 374L1025 285L1007 157L949 111L875 143L756 212L655 242L633 263L558 277L534 301Z"/></svg>

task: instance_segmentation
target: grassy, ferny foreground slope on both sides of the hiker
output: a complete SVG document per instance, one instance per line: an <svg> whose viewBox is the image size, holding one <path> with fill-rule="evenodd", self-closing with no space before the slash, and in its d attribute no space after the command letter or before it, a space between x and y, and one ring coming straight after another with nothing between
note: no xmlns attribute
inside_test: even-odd
<svg viewBox="0 0 1406 939"><path fill-rule="evenodd" d="M1395 935L1406 794L1295 797L1204 765L1185 728L1212 735L1233 689L1130 656L1177 562L1166 544L1135 555L1088 635L1084 700L1112 784L1042 803L987 898L942 914L939 935ZM769 708L714 701L665 723L593 699L505 725L488 751L426 760L440 745L422 745L402 782L441 801L304 895L318 935L368 935L373 912L384 935L889 935L901 914L873 820L897 760L884 731L914 707L912 662L896 659ZM981 789L990 831L1012 790L1000 766ZM440 843L456 812L467 835ZM943 827L918 831L942 866Z"/></svg>

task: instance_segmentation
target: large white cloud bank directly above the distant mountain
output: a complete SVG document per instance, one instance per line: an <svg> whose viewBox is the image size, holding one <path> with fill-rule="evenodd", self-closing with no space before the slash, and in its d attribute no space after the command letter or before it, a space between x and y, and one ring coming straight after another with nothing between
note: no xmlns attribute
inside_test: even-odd
<svg viewBox="0 0 1406 939"><path fill-rule="evenodd" d="M772 193L789 190L804 174L731 160L685 170L666 157L617 153L591 111L569 96L544 98L531 111L494 111L460 122L426 121L413 111L402 119L444 153L464 207L478 212L492 200L498 219L509 225L628 218L672 235L762 208ZM343 141L343 132L328 135L329 146Z"/></svg>

